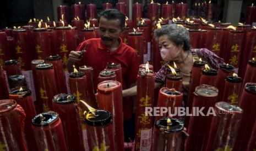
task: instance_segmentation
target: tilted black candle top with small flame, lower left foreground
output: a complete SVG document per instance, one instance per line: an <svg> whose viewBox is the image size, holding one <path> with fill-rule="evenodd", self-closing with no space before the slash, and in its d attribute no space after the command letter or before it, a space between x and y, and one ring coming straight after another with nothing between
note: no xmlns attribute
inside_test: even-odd
<svg viewBox="0 0 256 151"><path fill-rule="evenodd" d="M41 126L48 126L51 125L52 123L55 123L59 118L59 114L53 111L49 112L43 112L41 114L37 114L33 119L32 119L32 124L37 127Z"/></svg>

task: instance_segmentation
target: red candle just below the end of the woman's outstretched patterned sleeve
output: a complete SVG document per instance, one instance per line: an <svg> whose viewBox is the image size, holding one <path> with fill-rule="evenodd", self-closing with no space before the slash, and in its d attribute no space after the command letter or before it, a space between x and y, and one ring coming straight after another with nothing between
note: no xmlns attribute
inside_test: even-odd
<svg viewBox="0 0 256 151"><path fill-rule="evenodd" d="M225 79L228 75L232 75L235 72L235 69L232 65L221 64L217 71L217 80L216 80L216 88L219 90L218 100L222 100L224 95L224 83Z"/></svg>

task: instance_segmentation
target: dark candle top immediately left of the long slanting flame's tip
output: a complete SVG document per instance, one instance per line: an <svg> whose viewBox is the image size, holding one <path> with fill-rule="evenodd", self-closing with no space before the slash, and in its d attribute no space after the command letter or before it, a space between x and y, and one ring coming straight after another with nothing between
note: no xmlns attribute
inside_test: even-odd
<svg viewBox="0 0 256 151"><path fill-rule="evenodd" d="M77 99L73 95L57 94L53 96L53 100L57 104L69 104L77 102Z"/></svg>

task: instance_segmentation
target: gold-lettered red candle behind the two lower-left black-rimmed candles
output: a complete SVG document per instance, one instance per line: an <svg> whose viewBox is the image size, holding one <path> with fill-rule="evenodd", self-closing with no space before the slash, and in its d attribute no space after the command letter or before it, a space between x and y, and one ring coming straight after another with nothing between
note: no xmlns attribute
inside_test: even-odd
<svg viewBox="0 0 256 151"><path fill-rule="evenodd" d="M53 111L52 98L57 94L55 71L52 63L41 63L36 65L37 85L40 91L38 101L39 112Z"/></svg>

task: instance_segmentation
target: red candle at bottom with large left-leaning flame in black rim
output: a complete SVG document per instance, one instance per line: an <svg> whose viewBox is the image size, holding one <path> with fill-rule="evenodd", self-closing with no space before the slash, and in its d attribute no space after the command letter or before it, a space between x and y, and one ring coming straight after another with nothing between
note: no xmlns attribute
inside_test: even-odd
<svg viewBox="0 0 256 151"><path fill-rule="evenodd" d="M85 115L85 123L88 131L89 150L102 150L102 148L118 150L110 112L101 109L89 112Z"/></svg>

